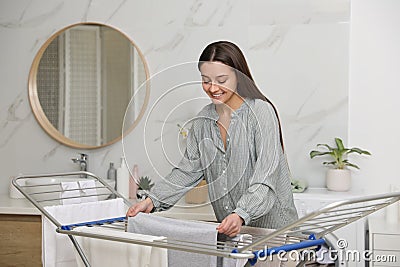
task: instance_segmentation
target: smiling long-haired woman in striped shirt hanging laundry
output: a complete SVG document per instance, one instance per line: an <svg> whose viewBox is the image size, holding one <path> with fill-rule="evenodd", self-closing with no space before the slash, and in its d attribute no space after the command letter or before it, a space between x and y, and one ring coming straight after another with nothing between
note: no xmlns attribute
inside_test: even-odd
<svg viewBox="0 0 400 267"><path fill-rule="evenodd" d="M232 237L242 225L276 229L296 220L278 114L243 53L215 42L198 68L212 103L193 121L179 165L127 216L168 209L205 178L219 233Z"/></svg>

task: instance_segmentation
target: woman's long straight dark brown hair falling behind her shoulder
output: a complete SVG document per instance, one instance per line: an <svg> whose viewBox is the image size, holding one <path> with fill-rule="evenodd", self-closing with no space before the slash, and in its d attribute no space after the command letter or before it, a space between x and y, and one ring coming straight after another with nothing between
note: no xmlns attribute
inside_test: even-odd
<svg viewBox="0 0 400 267"><path fill-rule="evenodd" d="M246 58L244 57L240 48L237 45L228 41L218 41L211 43L206 48L204 48L203 52L200 55L198 63L199 70L201 64L207 61L221 62L225 65L230 66L236 71L238 79L238 95L243 98L247 97L252 99L261 99L268 102L272 106L278 119L279 139L283 149L284 147L282 129L281 122L278 116L278 111L276 110L274 104L272 104L272 102L265 95L263 95L263 93L261 93L261 91L256 86L253 76L250 73L249 66L247 65Z"/></svg>

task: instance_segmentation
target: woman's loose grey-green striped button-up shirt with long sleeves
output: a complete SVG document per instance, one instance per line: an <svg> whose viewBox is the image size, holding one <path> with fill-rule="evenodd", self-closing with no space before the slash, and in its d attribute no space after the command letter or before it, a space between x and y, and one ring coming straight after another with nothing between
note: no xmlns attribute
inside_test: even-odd
<svg viewBox="0 0 400 267"><path fill-rule="evenodd" d="M289 166L273 107L245 99L232 112L226 148L218 118L212 103L194 118L184 157L149 195L155 210L170 208L205 178L219 222L233 212L254 227L276 229L296 220Z"/></svg>

